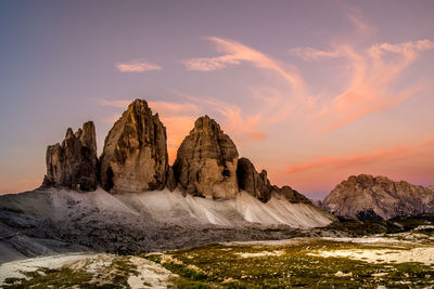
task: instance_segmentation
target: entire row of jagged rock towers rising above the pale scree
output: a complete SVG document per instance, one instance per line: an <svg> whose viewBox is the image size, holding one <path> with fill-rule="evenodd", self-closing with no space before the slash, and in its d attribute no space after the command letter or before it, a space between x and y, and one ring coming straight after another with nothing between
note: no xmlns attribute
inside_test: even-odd
<svg viewBox="0 0 434 289"><path fill-rule="evenodd" d="M270 184L208 116L200 117L181 143L174 166L168 165L166 128L144 100L133 101L105 137L100 159L93 122L76 134L68 129L62 146L47 149L44 185L111 194L170 192L208 199L234 198L245 191L268 202L272 197L293 203L310 201L290 186Z"/></svg>

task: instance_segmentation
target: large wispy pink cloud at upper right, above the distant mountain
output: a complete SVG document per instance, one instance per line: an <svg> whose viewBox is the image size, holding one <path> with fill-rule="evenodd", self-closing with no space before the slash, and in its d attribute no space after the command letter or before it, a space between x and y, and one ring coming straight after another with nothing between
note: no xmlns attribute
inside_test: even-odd
<svg viewBox="0 0 434 289"><path fill-rule="evenodd" d="M322 102L322 107L316 113L316 122L327 124L323 130L329 132L414 95L421 89L418 83L396 91L393 89L394 81L418 58L420 52L433 49L434 43L430 40L419 40L373 44L361 51L341 44L331 51L296 48L292 52L304 60L341 57L350 64L348 84L342 93L332 97L332 102Z"/></svg>

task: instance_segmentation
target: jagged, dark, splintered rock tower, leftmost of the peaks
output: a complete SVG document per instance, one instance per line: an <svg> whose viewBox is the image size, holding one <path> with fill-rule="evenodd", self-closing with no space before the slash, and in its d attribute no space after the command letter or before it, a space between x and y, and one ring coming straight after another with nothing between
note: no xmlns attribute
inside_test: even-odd
<svg viewBox="0 0 434 289"><path fill-rule="evenodd" d="M93 122L86 122L76 133L69 128L62 145L58 143L47 148L43 185L94 191L98 185L97 162Z"/></svg>

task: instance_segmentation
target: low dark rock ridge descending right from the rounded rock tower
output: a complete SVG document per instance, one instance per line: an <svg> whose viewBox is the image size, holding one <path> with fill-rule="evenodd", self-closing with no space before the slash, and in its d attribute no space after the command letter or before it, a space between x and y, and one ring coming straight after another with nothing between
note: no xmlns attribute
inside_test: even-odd
<svg viewBox="0 0 434 289"><path fill-rule="evenodd" d="M267 179L267 171L263 170L258 173L255 166L246 158L238 160L237 179L240 189L247 192L263 202L270 200L271 196L277 196L283 197L290 202L310 203L305 196L290 186L278 187L271 185Z"/></svg>

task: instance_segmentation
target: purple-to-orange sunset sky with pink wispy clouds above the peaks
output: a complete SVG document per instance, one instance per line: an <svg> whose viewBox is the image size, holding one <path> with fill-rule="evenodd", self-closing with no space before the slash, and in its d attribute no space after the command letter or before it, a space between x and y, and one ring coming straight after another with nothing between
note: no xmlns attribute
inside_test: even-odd
<svg viewBox="0 0 434 289"><path fill-rule="evenodd" d="M323 198L352 174L434 185L434 1L0 1L0 194L48 145L133 98L170 162L216 119L271 183Z"/></svg>

